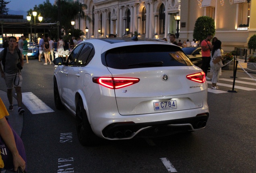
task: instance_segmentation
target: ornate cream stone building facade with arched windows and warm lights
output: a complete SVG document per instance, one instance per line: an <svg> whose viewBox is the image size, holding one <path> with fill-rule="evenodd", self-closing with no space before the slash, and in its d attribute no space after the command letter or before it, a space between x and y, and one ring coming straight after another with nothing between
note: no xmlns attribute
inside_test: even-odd
<svg viewBox="0 0 256 173"><path fill-rule="evenodd" d="M194 24L200 16L215 21L215 36L222 41L223 49L246 48L250 37L256 34L256 2L254 0L81 0L89 16L76 28L85 31L87 37L101 38L109 34L122 37L138 33L139 37L168 38L170 33L177 40L192 41ZM180 15L180 22L174 16ZM80 25L80 26L79 26Z"/></svg>

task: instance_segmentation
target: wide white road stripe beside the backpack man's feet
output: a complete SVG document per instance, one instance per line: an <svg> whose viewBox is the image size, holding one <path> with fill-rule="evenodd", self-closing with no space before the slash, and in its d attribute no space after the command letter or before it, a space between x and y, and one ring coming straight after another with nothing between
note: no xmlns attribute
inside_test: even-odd
<svg viewBox="0 0 256 173"><path fill-rule="evenodd" d="M33 93L22 93L22 102L32 114L54 112Z"/></svg>

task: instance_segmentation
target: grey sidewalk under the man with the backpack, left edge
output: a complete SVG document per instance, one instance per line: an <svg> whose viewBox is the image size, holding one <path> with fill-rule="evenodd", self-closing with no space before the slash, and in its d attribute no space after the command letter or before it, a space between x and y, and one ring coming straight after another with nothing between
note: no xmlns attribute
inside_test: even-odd
<svg viewBox="0 0 256 173"><path fill-rule="evenodd" d="M7 93L0 90L0 97L2 99L2 101L4 102L4 105L8 111L9 108L9 101L7 98ZM21 136L22 133L22 128L23 128L23 115L19 115L18 113L18 103L17 100L13 97L13 111L8 111L9 112L9 116L8 120L10 122L10 125L12 126L12 129L14 129L14 131Z"/></svg>

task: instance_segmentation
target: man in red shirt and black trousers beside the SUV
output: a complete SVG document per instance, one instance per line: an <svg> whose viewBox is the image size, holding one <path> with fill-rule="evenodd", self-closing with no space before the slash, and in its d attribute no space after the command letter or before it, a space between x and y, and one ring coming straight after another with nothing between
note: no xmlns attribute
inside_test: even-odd
<svg viewBox="0 0 256 173"><path fill-rule="evenodd" d="M213 38L212 34L208 34L207 37L202 40L201 42L201 48L202 48L202 70L205 73L205 78L206 80L210 80L207 76L208 69L210 67L210 61L211 61L211 49L212 49L212 44L211 44L211 39Z"/></svg>

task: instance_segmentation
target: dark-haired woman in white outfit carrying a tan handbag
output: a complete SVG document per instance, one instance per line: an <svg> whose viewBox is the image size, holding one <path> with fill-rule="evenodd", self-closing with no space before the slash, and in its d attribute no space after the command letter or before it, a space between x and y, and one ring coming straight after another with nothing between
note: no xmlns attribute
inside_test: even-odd
<svg viewBox="0 0 256 173"><path fill-rule="evenodd" d="M219 89L219 87L217 87L217 82L219 80L219 72L221 71L221 67L223 66L223 60L224 59L221 56L221 41L217 40L211 52L210 66L211 71L213 72L211 89Z"/></svg>

